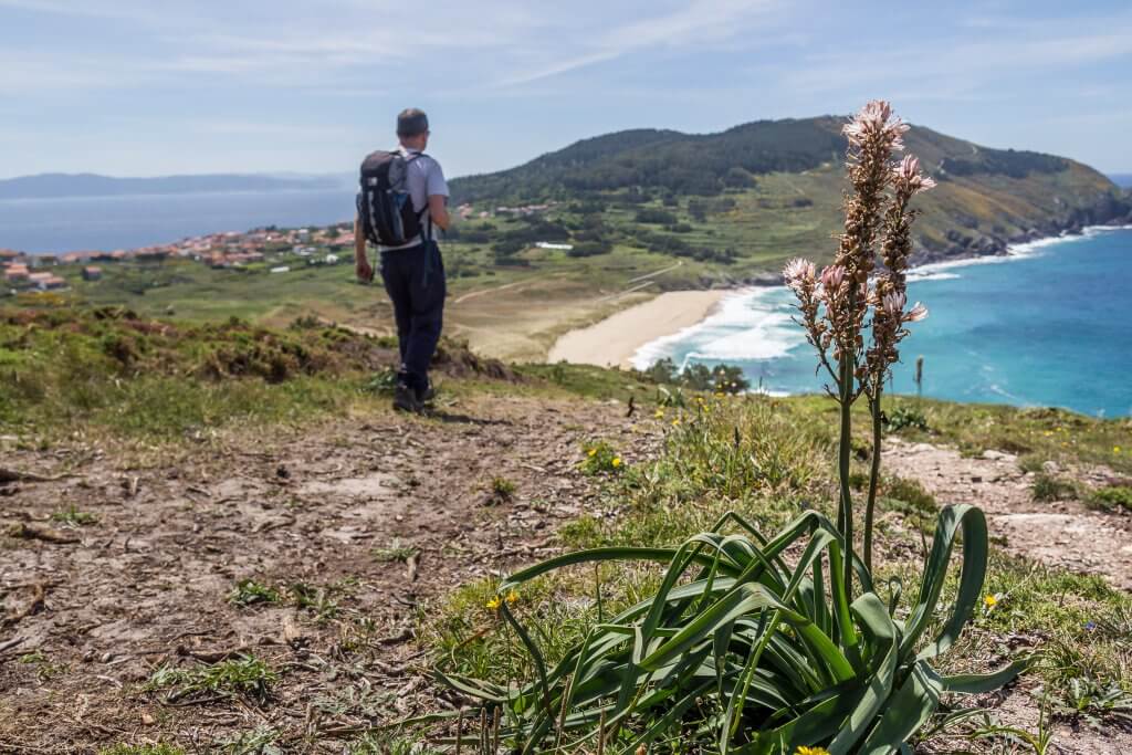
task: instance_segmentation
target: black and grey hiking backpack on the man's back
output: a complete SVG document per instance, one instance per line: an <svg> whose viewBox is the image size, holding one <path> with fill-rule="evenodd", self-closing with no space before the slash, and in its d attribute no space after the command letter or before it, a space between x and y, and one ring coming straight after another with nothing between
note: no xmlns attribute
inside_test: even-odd
<svg viewBox="0 0 1132 755"><path fill-rule="evenodd" d="M421 232L421 212L413 209L409 195L409 164L423 153L408 157L400 152L375 152L361 164L358 217L362 233L376 244L402 247Z"/></svg>

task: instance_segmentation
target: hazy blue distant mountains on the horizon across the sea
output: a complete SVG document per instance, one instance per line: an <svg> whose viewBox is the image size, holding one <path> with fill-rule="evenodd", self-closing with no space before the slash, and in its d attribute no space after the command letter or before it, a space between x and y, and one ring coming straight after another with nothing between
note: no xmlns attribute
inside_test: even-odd
<svg viewBox="0 0 1132 755"><path fill-rule="evenodd" d="M112 178L95 173L41 173L0 180L0 199L120 197L224 191L294 191L344 186L337 175L209 174Z"/></svg>

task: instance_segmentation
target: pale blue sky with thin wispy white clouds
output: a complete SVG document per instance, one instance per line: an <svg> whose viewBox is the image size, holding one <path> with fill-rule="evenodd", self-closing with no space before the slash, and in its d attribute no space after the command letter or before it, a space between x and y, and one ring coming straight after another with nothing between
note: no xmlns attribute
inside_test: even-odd
<svg viewBox="0 0 1132 755"><path fill-rule="evenodd" d="M449 175L875 97L1132 172L1132 2L0 0L0 178L349 173L423 108Z"/></svg>

